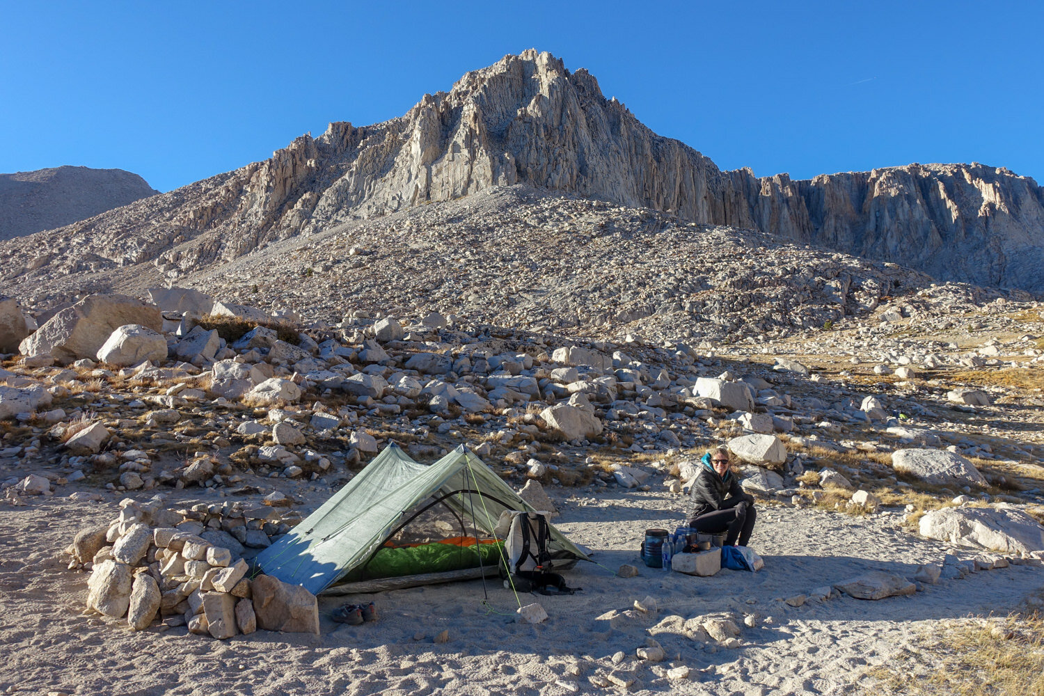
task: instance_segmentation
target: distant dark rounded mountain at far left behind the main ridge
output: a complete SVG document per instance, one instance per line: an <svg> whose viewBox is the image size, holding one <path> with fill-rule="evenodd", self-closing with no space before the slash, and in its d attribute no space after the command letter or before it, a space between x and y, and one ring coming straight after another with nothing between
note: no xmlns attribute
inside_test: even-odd
<svg viewBox="0 0 1044 696"><path fill-rule="evenodd" d="M157 193L122 169L55 167L0 174L0 240L61 227Z"/></svg>

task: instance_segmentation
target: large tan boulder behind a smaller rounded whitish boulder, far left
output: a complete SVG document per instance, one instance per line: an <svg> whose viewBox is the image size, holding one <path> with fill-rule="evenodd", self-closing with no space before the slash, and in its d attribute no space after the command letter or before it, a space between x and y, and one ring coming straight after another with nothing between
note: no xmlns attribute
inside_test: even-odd
<svg viewBox="0 0 1044 696"><path fill-rule="evenodd" d="M93 360L113 332L127 325L160 332L163 315L160 308L126 295L88 295L45 321L19 350L27 356L49 355L63 363Z"/></svg>

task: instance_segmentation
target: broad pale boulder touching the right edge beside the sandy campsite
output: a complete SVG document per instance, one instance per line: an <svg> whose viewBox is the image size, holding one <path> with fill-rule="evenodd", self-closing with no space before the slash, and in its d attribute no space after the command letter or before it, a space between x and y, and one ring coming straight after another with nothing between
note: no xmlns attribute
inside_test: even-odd
<svg viewBox="0 0 1044 696"><path fill-rule="evenodd" d="M1044 551L1044 527L1027 512L1009 505L944 507L920 521L923 536L1001 553Z"/></svg>

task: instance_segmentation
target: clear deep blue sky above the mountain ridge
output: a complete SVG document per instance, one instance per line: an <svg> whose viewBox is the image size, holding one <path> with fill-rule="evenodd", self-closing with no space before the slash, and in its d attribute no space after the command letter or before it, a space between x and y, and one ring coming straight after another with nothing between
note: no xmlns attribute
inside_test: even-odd
<svg viewBox="0 0 1044 696"><path fill-rule="evenodd" d="M167 191L536 47L722 169L1040 179L1042 29L1035 2L0 0L0 171L114 167Z"/></svg>

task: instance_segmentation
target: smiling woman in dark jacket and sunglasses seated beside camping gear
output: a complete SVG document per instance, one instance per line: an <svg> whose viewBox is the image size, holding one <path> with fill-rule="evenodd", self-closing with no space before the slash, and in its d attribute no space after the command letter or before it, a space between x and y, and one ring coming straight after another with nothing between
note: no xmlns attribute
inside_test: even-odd
<svg viewBox="0 0 1044 696"><path fill-rule="evenodd" d="M728 532L726 546L746 546L757 513L754 497L743 493L730 471L729 449L717 447L703 458L703 469L692 482L689 527L704 534Z"/></svg>

